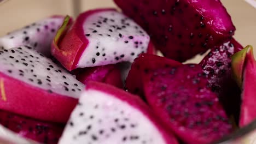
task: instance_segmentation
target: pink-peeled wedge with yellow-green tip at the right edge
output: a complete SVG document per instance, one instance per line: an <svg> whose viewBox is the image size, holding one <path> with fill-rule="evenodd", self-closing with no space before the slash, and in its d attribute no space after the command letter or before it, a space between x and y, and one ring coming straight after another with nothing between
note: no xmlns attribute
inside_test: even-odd
<svg viewBox="0 0 256 144"><path fill-rule="evenodd" d="M256 62L252 46L247 46L232 56L232 71L238 86L242 89L239 125L243 127L256 119Z"/></svg>

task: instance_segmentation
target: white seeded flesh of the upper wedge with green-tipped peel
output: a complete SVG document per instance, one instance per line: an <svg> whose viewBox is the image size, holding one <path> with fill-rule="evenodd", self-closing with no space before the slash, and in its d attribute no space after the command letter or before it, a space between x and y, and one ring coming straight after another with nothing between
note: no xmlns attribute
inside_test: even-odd
<svg viewBox="0 0 256 144"><path fill-rule="evenodd" d="M90 43L80 58L78 67L104 65L107 61L132 62L139 53L147 51L149 43L147 33L117 11L102 11L90 15L85 20L83 29Z"/></svg>

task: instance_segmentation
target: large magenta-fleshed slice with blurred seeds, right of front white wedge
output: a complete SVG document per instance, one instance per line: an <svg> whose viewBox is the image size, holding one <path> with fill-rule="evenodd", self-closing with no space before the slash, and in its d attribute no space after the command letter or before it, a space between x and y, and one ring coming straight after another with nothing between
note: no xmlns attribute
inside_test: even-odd
<svg viewBox="0 0 256 144"><path fill-rule="evenodd" d="M200 65L150 70L144 77L148 104L187 143L210 143L232 130Z"/></svg>

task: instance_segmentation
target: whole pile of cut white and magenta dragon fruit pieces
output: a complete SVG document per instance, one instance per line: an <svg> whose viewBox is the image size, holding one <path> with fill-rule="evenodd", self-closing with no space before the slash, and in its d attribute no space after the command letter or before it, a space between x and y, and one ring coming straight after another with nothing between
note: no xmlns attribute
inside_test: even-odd
<svg viewBox="0 0 256 144"><path fill-rule="evenodd" d="M210 143L256 118L252 47L232 38L220 1L115 3L123 13L51 16L0 38L2 131L40 143Z"/></svg>

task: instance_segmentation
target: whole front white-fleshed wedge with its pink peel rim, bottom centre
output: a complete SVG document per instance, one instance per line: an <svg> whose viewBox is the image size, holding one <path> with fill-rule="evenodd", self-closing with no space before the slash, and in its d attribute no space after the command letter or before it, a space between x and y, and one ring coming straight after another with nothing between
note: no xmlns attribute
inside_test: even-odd
<svg viewBox="0 0 256 144"><path fill-rule="evenodd" d="M89 82L59 141L62 143L177 143L135 95Z"/></svg>

